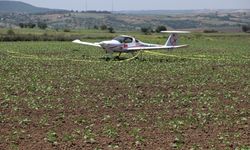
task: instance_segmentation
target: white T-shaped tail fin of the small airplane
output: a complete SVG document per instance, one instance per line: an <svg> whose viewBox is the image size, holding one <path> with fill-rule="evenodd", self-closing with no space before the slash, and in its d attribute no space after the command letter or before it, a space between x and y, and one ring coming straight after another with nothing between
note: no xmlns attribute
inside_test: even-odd
<svg viewBox="0 0 250 150"><path fill-rule="evenodd" d="M168 37L165 46L177 46L178 45L178 34L179 33L190 33L189 31L161 31L162 33L171 33Z"/></svg>

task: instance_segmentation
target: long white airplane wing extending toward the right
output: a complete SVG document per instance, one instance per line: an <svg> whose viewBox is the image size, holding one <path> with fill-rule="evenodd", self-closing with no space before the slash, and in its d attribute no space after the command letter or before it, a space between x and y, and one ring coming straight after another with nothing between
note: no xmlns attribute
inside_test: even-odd
<svg viewBox="0 0 250 150"><path fill-rule="evenodd" d="M178 46L155 46L155 47L131 47L127 48L128 51L140 51L140 50L168 50L168 49L175 49L175 48L183 48L187 47L188 45L178 45Z"/></svg>

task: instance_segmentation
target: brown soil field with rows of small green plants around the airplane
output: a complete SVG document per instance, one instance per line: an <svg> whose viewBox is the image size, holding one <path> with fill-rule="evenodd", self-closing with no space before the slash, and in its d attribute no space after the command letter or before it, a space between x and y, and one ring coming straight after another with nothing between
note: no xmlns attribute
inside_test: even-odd
<svg viewBox="0 0 250 150"><path fill-rule="evenodd" d="M0 149L250 149L250 35L181 42L190 47L130 61L71 42L1 42Z"/></svg>

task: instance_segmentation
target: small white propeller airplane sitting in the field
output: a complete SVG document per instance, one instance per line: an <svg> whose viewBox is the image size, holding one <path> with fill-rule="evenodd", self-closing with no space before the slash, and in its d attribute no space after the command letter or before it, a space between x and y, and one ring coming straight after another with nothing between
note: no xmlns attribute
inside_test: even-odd
<svg viewBox="0 0 250 150"><path fill-rule="evenodd" d="M161 33L170 33L164 45L144 43L132 36L121 35L110 41L102 41L99 43L82 42L74 40L73 43L95 46L102 48L108 54L119 53L118 58L122 53L134 53L138 51L149 50L172 50L176 48L187 47L188 45L178 45L178 34L190 33L189 31L161 31Z"/></svg>

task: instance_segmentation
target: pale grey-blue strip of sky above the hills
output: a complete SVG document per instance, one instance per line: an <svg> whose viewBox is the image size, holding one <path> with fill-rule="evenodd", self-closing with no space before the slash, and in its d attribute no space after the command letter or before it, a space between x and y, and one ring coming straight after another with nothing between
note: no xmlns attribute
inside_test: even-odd
<svg viewBox="0 0 250 150"><path fill-rule="evenodd" d="M68 10L250 9L250 0L19 0Z"/></svg>

